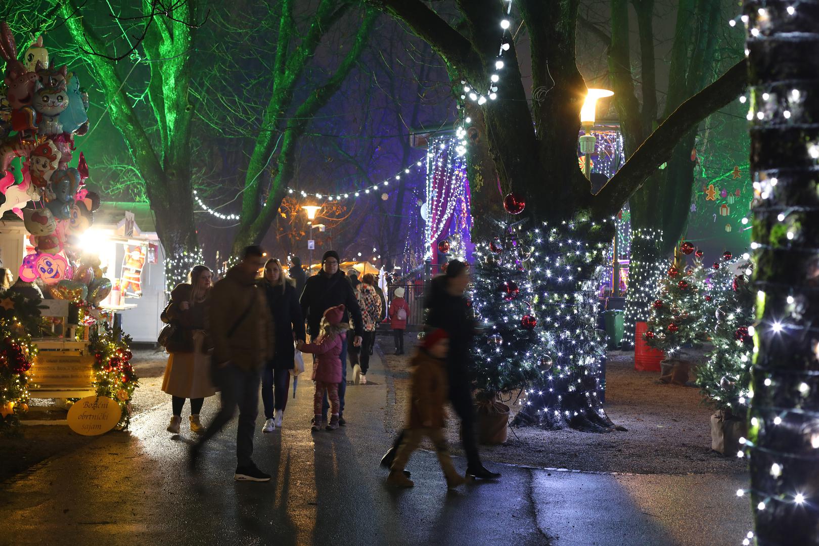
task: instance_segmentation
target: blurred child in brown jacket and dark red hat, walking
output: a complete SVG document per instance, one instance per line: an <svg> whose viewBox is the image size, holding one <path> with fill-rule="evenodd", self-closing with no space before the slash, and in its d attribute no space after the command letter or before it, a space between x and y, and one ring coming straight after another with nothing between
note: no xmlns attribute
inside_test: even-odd
<svg viewBox="0 0 819 546"><path fill-rule="evenodd" d="M449 387L446 381L446 353L449 350L449 334L438 329L428 332L423 338L423 345L412 360L412 397L409 402L409 424L404 431L396 458L390 467L387 483L396 487L412 487L414 483L404 474L409 456L424 436L428 436L435 445L438 462L446 476L449 489L466 481L452 466L449 450L444 438L444 404Z"/></svg>

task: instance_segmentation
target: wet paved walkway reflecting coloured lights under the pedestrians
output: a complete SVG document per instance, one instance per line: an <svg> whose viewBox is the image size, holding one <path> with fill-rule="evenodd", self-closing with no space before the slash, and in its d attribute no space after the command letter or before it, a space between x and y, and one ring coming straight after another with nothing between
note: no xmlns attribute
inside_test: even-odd
<svg viewBox="0 0 819 546"><path fill-rule="evenodd" d="M266 484L233 481L235 422L188 476L191 435L165 432L170 399L129 434L48 460L0 484L0 545L15 544L739 544L744 476L637 476L500 466L497 482L447 493L432 453L410 460L413 490L384 484L378 459L387 387L374 358L349 386L338 431L311 433L312 384L301 381L282 431L256 434ZM207 422L215 399L203 411ZM183 417L187 418L187 417ZM259 421L257 428L260 428ZM465 462L456 459L458 467Z"/></svg>

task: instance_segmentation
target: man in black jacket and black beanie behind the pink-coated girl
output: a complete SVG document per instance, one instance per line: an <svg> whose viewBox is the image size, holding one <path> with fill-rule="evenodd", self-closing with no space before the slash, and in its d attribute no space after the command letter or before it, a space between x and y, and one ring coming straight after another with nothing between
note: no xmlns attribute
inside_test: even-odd
<svg viewBox="0 0 819 546"><path fill-rule="evenodd" d="M364 323L361 322L361 308L358 305L358 300L355 299L355 293L349 282L346 281L343 271L340 271L338 264L341 260L338 259L338 253L335 250L328 250L321 258L321 271L316 273L305 282L305 290L301 293L301 314L307 318L307 333L312 339L319 336L319 323L324 315L324 311L336 305L344 305L344 316L342 323L353 319L353 326L355 327L355 338L353 346L361 346L361 336L364 334ZM347 387L347 345L350 340L345 338L342 343L342 382L338 386L338 398L341 402L341 411L339 412L339 425L344 425L344 394ZM329 404L327 395L324 395L324 403L322 404L322 417L327 420L327 410Z"/></svg>

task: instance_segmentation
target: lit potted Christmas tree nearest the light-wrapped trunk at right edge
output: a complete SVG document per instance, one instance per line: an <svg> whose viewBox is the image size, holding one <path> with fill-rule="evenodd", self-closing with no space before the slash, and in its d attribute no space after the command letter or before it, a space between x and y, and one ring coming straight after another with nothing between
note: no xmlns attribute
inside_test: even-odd
<svg viewBox="0 0 819 546"><path fill-rule="evenodd" d="M753 324L753 291L744 270L750 268L747 260L739 264L740 274L734 268L721 268L720 275L711 278L708 296L711 296L716 323L711 332L714 349L708 362L696 370L696 382L703 395L726 417L744 419L747 411L748 390L751 380L750 359L753 340L748 327ZM706 308L712 307L706 305Z"/></svg>

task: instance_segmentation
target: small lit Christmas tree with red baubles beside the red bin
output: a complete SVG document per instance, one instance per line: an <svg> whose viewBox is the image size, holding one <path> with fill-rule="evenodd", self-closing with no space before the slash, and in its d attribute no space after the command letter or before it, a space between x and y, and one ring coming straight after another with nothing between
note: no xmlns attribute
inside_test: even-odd
<svg viewBox="0 0 819 546"><path fill-rule="evenodd" d="M703 264L699 259L685 268L683 260L675 264L667 268L659 282L645 332L649 347L666 354L674 354L683 345L698 345L705 337L706 311L700 282Z"/></svg>

